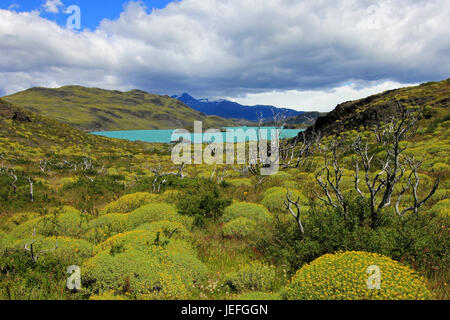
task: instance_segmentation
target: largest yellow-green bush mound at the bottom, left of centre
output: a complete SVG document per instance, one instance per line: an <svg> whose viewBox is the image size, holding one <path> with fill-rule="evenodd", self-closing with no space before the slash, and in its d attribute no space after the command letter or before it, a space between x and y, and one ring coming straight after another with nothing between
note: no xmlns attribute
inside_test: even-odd
<svg viewBox="0 0 450 320"><path fill-rule="evenodd" d="M138 299L187 299L207 274L187 242L145 230L114 236L96 252L83 267L94 294L114 290Z"/></svg>

